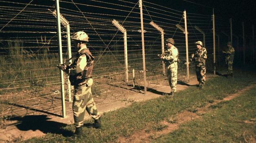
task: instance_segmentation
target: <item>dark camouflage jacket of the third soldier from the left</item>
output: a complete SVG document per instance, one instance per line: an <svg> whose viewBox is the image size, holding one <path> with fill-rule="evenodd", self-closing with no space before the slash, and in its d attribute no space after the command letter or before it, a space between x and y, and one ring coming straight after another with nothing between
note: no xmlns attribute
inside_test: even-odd
<svg viewBox="0 0 256 143"><path fill-rule="evenodd" d="M206 48L201 48L196 50L192 55L192 60L195 61L195 65L198 67L204 67L205 61L207 59L207 51Z"/></svg>

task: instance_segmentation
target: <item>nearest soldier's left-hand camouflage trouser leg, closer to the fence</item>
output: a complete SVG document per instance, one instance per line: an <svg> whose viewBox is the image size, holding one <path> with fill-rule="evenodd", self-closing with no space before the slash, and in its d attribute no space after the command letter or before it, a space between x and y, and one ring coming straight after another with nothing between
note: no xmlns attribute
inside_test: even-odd
<svg viewBox="0 0 256 143"><path fill-rule="evenodd" d="M86 101L85 101L85 86L75 87L75 94L73 99L73 114L74 114L74 125L76 128L84 124Z"/></svg>

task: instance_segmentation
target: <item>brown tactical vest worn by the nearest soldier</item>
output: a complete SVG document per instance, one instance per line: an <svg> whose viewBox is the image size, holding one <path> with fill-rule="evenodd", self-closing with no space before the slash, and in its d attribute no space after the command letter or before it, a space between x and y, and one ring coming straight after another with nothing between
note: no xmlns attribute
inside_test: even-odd
<svg viewBox="0 0 256 143"><path fill-rule="evenodd" d="M72 65L76 65L79 57L84 54L86 55L87 65L85 66L85 69L82 72L76 75L69 75L69 81L71 85L82 86L84 84L87 84L88 78L91 78L92 71L93 71L94 57L93 55L91 55L91 52L89 51L88 48L83 49L80 53L76 55L76 59L74 60Z"/></svg>

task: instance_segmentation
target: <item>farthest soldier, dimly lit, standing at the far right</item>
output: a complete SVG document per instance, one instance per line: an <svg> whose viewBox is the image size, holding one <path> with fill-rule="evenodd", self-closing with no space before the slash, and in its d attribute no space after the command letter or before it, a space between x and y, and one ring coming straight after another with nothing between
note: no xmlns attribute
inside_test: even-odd
<svg viewBox="0 0 256 143"><path fill-rule="evenodd" d="M233 60L234 60L234 47L232 46L231 42L227 42L227 48L222 53L226 54L226 65L228 67L228 77L233 77Z"/></svg>

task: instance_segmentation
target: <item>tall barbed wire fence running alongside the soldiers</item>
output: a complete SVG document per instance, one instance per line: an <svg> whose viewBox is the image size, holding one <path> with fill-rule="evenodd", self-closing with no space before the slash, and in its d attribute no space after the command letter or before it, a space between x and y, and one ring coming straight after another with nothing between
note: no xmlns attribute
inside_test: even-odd
<svg viewBox="0 0 256 143"><path fill-rule="evenodd" d="M58 38L54 0L28 3L0 0L0 127L19 124L15 117L34 114L63 116L61 105L60 76L56 65L59 63ZM88 0L86 4L73 0L59 0L60 13L67 19L70 34L84 31L89 35L88 47L95 56L93 71L93 95L111 96L124 90L143 93L143 56L141 44L141 19L139 2L116 0ZM187 82L194 78L193 63L187 73L185 34L176 26L185 27L184 11L147 2L143 5L143 25L145 44L145 67L148 90L168 85L163 75L162 61L156 57L162 53L161 33L150 22L164 30L164 39L174 38L179 50L178 79ZM195 42L204 41L208 52L207 72L214 66L223 66L221 50L230 40L228 19L215 18L216 59L213 62L213 17L197 13L187 13L188 53L196 50ZM117 20L127 32L127 59L125 65L124 34L113 25ZM237 24L237 23L236 23ZM199 30L198 30L199 29ZM233 43L239 53L243 53L241 32L237 32ZM245 38L244 38L245 39ZM249 37L247 37L249 39ZM254 39L252 38L252 42ZM61 26L63 62L68 62L69 50L67 32ZM251 42L251 43L252 43ZM237 43L237 44L235 44ZM249 53L254 47L246 48ZM166 49L166 48L165 48ZM76 50L72 49L72 55ZM237 59L244 55L237 54ZM252 55L252 57L254 57ZM252 60L252 59L250 59ZM243 60L239 60L243 61ZM128 71L128 81L126 81ZM133 77L133 72L135 77ZM67 75L65 75L65 100L70 104ZM120 96L120 95L117 95ZM72 110L67 110L71 114Z"/></svg>

